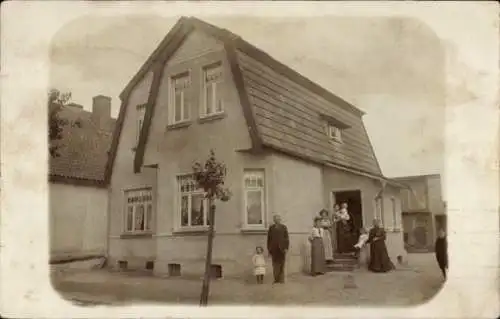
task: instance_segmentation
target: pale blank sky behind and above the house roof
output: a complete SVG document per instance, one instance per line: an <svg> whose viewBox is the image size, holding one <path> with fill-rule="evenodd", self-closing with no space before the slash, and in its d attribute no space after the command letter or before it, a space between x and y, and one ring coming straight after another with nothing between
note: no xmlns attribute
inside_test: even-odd
<svg viewBox="0 0 500 319"><path fill-rule="evenodd" d="M90 14L67 23L52 40L51 86L71 91L73 102L88 110L92 96L109 95L116 117L119 93L177 19ZM436 31L446 21L410 15L202 19L364 110L384 175L442 172L449 92L460 101L473 98L463 81L447 78L447 68L461 62L459 43ZM473 72L460 66L464 78Z"/></svg>

